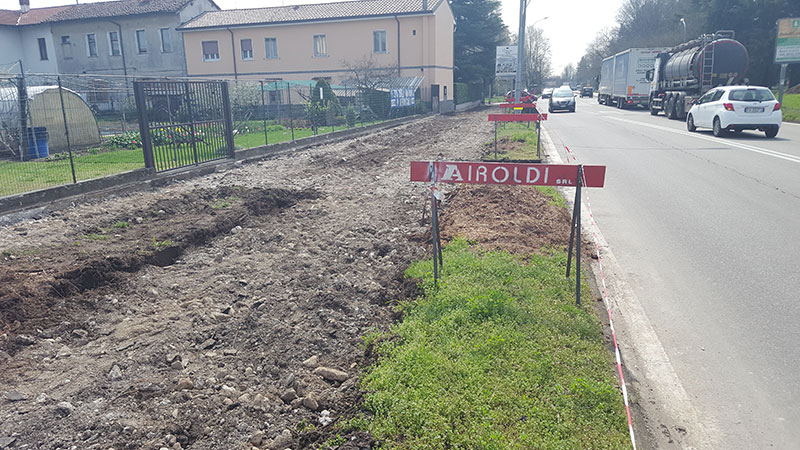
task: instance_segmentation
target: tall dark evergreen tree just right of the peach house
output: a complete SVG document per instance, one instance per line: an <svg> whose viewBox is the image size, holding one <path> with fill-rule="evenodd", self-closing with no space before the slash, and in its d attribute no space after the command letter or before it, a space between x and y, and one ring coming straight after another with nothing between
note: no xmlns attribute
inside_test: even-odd
<svg viewBox="0 0 800 450"><path fill-rule="evenodd" d="M453 0L455 80L488 82L494 78L495 51L508 42L497 0Z"/></svg>

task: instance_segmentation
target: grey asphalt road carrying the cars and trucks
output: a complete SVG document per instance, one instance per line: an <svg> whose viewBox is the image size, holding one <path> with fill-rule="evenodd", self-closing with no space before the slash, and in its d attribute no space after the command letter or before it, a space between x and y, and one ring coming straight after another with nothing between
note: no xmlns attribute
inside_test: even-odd
<svg viewBox="0 0 800 450"><path fill-rule="evenodd" d="M579 99L546 130L608 167L596 221L719 448L800 449L800 125L715 138Z"/></svg>

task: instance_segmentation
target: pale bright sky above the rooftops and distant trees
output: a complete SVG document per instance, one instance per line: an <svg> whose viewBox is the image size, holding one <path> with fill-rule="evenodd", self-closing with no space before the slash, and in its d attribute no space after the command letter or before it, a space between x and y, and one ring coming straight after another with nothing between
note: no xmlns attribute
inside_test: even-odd
<svg viewBox="0 0 800 450"><path fill-rule="evenodd" d="M332 0L216 0L223 9L327 3ZM536 23L550 39L553 70L560 73L569 63L578 64L586 46L597 32L616 22L617 9L623 0L528 0L527 24ZM30 0L32 8L66 5L66 0ZM88 3L81 0L81 3ZM520 0L501 0L503 22L511 33L519 31ZM19 0L0 0L0 9L19 9Z"/></svg>

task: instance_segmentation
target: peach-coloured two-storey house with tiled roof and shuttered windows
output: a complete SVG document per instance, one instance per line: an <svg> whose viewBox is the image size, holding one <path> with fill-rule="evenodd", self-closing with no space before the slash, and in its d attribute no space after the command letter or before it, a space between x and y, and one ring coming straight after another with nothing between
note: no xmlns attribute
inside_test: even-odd
<svg viewBox="0 0 800 450"><path fill-rule="evenodd" d="M190 77L342 84L367 64L422 77L422 99L445 101L454 26L445 0L361 0L210 11L179 30Z"/></svg>

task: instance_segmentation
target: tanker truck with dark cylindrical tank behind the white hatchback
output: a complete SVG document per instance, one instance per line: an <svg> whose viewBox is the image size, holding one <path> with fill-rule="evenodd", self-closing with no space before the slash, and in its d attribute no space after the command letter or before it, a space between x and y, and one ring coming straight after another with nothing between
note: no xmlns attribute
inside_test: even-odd
<svg viewBox="0 0 800 450"><path fill-rule="evenodd" d="M744 81L748 58L731 30L704 34L659 53L646 74L650 114L664 111L669 119L685 119L692 102L710 89Z"/></svg>

